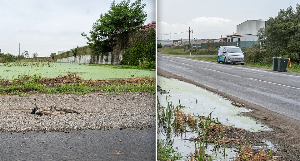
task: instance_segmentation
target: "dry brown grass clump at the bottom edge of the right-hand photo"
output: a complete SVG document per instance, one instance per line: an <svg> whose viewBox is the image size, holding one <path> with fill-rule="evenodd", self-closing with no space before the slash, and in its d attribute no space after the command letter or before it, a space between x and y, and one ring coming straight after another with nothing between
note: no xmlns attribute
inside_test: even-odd
<svg viewBox="0 0 300 161"><path fill-rule="evenodd" d="M252 151L252 147L248 144L244 144L238 148L239 156L234 157L234 161L275 161L276 157L272 156L272 153L267 154L266 150Z"/></svg>

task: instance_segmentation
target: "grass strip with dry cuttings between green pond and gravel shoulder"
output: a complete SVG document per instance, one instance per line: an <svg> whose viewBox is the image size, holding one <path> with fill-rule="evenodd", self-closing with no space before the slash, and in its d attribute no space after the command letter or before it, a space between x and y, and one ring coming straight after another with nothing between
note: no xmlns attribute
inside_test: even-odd
<svg viewBox="0 0 300 161"><path fill-rule="evenodd" d="M155 93L155 84L153 85L132 85L132 84L110 84L101 87L83 86L76 84L63 84L56 87L45 87L35 81L24 82L23 84L12 83L6 86L0 86L1 94L17 94L24 96L26 93L89 93L104 91L108 93L120 92L150 92Z"/></svg>

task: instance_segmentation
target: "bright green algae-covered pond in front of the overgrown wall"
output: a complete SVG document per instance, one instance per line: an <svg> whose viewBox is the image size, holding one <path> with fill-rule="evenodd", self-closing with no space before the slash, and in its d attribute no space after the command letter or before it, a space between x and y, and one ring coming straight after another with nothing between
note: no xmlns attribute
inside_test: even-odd
<svg viewBox="0 0 300 161"><path fill-rule="evenodd" d="M12 79L22 74L42 73L42 77L55 78L60 74L77 72L85 79L155 77L155 71L137 69L113 69L109 66L89 66L74 63L0 63L0 76Z"/></svg>

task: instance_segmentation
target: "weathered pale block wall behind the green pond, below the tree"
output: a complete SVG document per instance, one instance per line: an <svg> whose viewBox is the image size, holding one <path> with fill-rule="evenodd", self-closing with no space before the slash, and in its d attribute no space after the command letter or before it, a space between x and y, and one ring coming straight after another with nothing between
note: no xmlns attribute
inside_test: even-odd
<svg viewBox="0 0 300 161"><path fill-rule="evenodd" d="M119 64L120 61L122 61L123 59L123 52L121 51L119 53L119 61L117 61L116 59L112 62L112 56L111 56L111 52L108 53L108 56L103 56L103 59L101 61L101 59L99 58L97 60L97 58L91 59L91 55L81 55L81 56L77 56L76 58L74 56L70 56L67 58L63 58L63 59L57 59L56 62L60 62L60 63L92 63L92 64Z"/></svg>

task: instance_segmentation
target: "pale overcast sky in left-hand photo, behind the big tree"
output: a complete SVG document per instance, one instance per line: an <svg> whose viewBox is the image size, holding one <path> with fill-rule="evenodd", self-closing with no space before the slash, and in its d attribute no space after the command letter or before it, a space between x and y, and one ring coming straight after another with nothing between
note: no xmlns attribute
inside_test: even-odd
<svg viewBox="0 0 300 161"><path fill-rule="evenodd" d="M50 56L59 50L87 45L81 36L88 33L111 0L0 0L0 49L19 54L26 50ZM121 2L121 0L116 0ZM146 24L155 21L155 0L144 0Z"/></svg>

